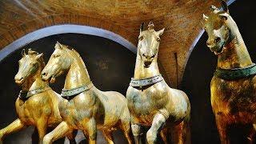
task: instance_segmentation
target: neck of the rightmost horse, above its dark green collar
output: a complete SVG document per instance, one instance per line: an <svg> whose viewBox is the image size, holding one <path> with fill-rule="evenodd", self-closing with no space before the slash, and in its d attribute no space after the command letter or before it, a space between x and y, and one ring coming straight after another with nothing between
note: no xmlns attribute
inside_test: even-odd
<svg viewBox="0 0 256 144"><path fill-rule="evenodd" d="M233 21L234 20L230 20ZM226 46L223 53L218 56L218 67L222 69L243 68L252 64L250 54L243 42L242 35L235 22L230 25L230 35L233 38Z"/></svg>

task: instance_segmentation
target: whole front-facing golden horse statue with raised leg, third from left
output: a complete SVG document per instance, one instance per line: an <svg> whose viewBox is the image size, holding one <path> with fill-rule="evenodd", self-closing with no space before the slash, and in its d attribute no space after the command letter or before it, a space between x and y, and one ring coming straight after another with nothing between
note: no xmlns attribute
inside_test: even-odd
<svg viewBox="0 0 256 144"><path fill-rule="evenodd" d="M156 143L159 132L167 143L166 131L176 134L176 138L171 138L174 143L184 143L189 134L186 129L190 101L183 91L170 88L159 73L158 47L164 29L155 31L150 22L148 29L143 30L143 25L138 36L134 78L126 92L135 142L141 143L141 126L151 126L146 133L148 143Z"/></svg>

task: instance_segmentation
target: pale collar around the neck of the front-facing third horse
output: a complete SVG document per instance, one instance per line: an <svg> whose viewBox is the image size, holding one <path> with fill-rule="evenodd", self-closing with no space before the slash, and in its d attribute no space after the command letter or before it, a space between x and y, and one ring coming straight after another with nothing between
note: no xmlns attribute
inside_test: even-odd
<svg viewBox="0 0 256 144"><path fill-rule="evenodd" d="M149 85L153 85L155 83L161 82L162 80L163 78L161 74L151 78L144 78L144 79L131 78L130 86L133 86L133 87L149 86Z"/></svg>

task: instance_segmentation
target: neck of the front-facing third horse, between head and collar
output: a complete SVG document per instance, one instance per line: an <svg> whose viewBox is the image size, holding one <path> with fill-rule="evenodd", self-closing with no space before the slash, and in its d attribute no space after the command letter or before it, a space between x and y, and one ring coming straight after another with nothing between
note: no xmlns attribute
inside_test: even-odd
<svg viewBox="0 0 256 144"><path fill-rule="evenodd" d="M144 78L151 78L154 77L159 73L158 70L158 55L155 56L153 62L150 64L150 67L146 68L144 67L144 63L142 61L142 58L137 52L137 58L136 58L136 64L135 64L135 70L134 70L134 78L135 79L144 79Z"/></svg>

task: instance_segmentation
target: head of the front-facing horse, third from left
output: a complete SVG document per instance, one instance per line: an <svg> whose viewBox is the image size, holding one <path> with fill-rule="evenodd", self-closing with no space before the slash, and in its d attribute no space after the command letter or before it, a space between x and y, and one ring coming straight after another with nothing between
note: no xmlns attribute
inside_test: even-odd
<svg viewBox="0 0 256 144"><path fill-rule="evenodd" d="M154 30L153 22L150 22L147 30L143 30L144 22L140 28L138 36L138 54L144 63L144 67L150 67L150 64L158 55L158 47L160 44L160 36L164 32L164 28L159 31Z"/></svg>

